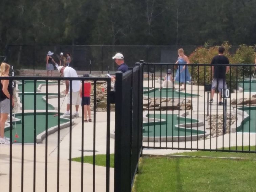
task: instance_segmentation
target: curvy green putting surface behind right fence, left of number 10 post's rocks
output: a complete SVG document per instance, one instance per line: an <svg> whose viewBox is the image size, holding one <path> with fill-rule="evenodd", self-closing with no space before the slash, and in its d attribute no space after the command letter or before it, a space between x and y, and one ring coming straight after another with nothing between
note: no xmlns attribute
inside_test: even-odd
<svg viewBox="0 0 256 192"><path fill-rule="evenodd" d="M149 118L154 118L154 114L148 114L147 117ZM194 129L192 128L186 128L184 129L183 127L175 127L175 125L178 124L191 124L191 119L190 118L184 118L180 117L178 118L177 114L161 114L161 119L164 119L165 121L160 121L160 114L155 114L155 118L159 120L155 120L155 122L145 122L143 123L143 137L160 137L160 130L161 130L161 137L172 137L172 136L190 136L191 132L192 135L197 135L197 134L204 134L204 131L196 130L196 127ZM172 120L173 119L173 120ZM192 119L192 123L197 122L196 119Z"/></svg>

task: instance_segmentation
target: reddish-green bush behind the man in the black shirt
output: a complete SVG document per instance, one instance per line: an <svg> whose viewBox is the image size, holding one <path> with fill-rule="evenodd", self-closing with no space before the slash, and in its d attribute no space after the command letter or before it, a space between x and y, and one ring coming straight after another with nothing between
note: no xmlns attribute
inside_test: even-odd
<svg viewBox="0 0 256 192"><path fill-rule="evenodd" d="M236 77L238 80L242 79L242 76L249 77L254 68L253 67L237 67L236 64L253 64L255 53L253 46L240 45L235 54L230 53L231 45L228 42L224 42L222 46L225 47L225 56L229 59L230 64L234 64L230 71L226 75L227 86L231 89L236 89ZM218 55L218 46L209 47L205 43L204 47L198 47L189 56L190 63L195 64L210 64L212 58ZM210 76L210 66L193 66L189 68L192 74L193 83L196 85L210 84L213 77ZM232 81L230 81L230 79Z"/></svg>

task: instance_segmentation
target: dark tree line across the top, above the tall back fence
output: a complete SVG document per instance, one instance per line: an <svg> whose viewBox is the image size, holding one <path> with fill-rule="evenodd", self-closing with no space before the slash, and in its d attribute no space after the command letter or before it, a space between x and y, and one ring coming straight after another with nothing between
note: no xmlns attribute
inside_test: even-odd
<svg viewBox="0 0 256 192"><path fill-rule="evenodd" d="M0 44L256 44L256 0L1 0Z"/></svg>

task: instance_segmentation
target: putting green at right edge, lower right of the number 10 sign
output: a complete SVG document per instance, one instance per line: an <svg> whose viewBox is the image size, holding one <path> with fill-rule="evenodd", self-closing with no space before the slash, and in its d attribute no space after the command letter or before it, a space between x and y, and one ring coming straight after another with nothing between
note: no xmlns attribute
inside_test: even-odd
<svg viewBox="0 0 256 192"><path fill-rule="evenodd" d="M239 107L239 110L245 111L248 115L248 118L244 119L243 125L237 127L237 132L244 133L255 133L256 132L256 107ZM251 112L250 112L251 111Z"/></svg>

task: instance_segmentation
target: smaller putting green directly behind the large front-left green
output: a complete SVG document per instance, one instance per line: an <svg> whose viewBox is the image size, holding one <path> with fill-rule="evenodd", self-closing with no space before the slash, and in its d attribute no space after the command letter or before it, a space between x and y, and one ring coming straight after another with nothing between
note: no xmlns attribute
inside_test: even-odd
<svg viewBox="0 0 256 192"><path fill-rule="evenodd" d="M43 99L45 93L36 93L36 108L38 110L46 110L46 102ZM56 93L48 93L48 95L57 95ZM19 93L20 102L22 103L22 93ZM34 109L34 93L24 93L24 110ZM48 110L54 110L52 105L48 104Z"/></svg>

